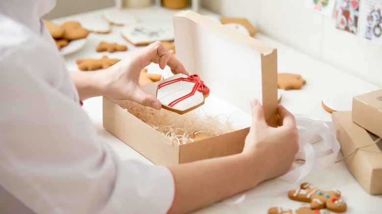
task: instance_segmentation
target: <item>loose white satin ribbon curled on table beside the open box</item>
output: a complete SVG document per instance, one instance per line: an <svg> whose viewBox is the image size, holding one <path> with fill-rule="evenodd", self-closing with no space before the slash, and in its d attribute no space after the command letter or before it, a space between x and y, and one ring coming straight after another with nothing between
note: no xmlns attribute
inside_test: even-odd
<svg viewBox="0 0 382 214"><path fill-rule="evenodd" d="M287 188L278 191L258 194L239 194L223 200L228 205L235 205L247 200L254 200L258 198L268 198L281 193L287 192L292 186L299 183L310 172L327 168L334 164L340 145L336 138L336 129L332 122L321 121L317 118L310 117L302 114L295 114L297 127L306 128L304 131L299 131L299 146L300 151L296 154L296 158L305 159L305 163L293 170L288 171L286 174L277 177L292 183ZM328 147L323 150L314 150L311 146L312 139L317 137L317 134L322 136L327 142ZM303 157L303 158L302 158Z"/></svg>

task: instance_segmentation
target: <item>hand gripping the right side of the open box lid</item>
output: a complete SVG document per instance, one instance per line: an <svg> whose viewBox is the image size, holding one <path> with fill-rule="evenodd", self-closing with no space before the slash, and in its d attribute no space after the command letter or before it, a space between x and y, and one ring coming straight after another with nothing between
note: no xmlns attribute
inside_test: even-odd
<svg viewBox="0 0 382 214"><path fill-rule="evenodd" d="M298 132L294 116L279 105L279 127L266 124L263 106L257 100L251 101L252 125L245 139L243 154L250 161L263 180L277 177L287 172L298 152Z"/></svg>

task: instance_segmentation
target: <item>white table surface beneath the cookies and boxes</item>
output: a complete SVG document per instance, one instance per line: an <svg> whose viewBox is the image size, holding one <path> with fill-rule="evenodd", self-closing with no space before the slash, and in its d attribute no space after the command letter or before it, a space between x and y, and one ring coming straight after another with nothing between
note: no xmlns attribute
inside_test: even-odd
<svg viewBox="0 0 382 214"><path fill-rule="evenodd" d="M104 10L93 11L90 13L102 15L103 11L112 10L107 8ZM168 10L159 7L150 7L144 9L125 9L128 12L137 16L143 22L150 22L157 20L158 16L165 22L171 23L172 15L175 10ZM211 18L217 17L216 14L209 11L200 10L199 13L208 15ZM89 13L86 13L89 14ZM63 17L54 21L69 21L80 20L84 14L78 14L71 17ZM136 50L143 47L135 47L119 34L121 26L112 26L112 31L108 34L91 33L87 37L87 42L83 48L72 54L66 55L65 61L69 70L78 71L75 60L80 58L101 58L107 55L109 58L122 59ZM354 93L362 94L369 91L380 89L366 81L363 81L353 75L337 69L329 64L325 64L317 59L314 59L304 53L301 53L287 45L277 42L268 38L260 33L255 35L255 38L272 45L278 51L278 72L283 73L296 73L300 74L307 84L300 90L282 90L279 93L282 95L281 104L284 105L289 111L294 114L306 114L314 116L321 120L331 121L331 114L326 112L321 107L323 97L332 92L337 91L351 91ZM113 42L125 44L128 46L126 52L101 52L95 51L95 47L100 42ZM105 141L115 150L122 160L137 159L147 164L153 164L137 151L133 150L125 143L120 141L117 137L109 133L102 127L102 98L95 97L84 101L83 109L89 114L93 121L94 128L96 129L99 137ZM337 159L343 157L340 152ZM382 195L370 195L366 193L358 184L353 175L348 171L344 161L336 163L326 169L310 173L304 180L310 182L323 190L338 189L342 193L342 198L347 202L348 214L377 214L381 213L382 208ZM277 185L276 180L267 181L260 184L258 189L265 189L267 187ZM295 189L295 185L291 189ZM255 189L256 189L255 188ZM287 198L286 193L274 196L271 198L256 199L246 201L238 205L227 205L225 203L216 203L212 206L194 212L195 214L253 214L253 213L267 213L270 207L278 206L284 208L296 209L301 205L301 202L291 201Z"/></svg>

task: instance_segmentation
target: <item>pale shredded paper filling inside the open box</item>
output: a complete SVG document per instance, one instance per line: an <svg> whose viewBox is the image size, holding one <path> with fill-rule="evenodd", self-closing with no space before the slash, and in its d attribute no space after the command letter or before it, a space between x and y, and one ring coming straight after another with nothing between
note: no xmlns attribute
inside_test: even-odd
<svg viewBox="0 0 382 214"><path fill-rule="evenodd" d="M124 111L142 120L151 128L164 134L178 144L191 143L195 131L203 131L209 136L226 134L234 131L232 114L207 115L202 107L183 115L166 109L156 110L144 107L135 102L129 102ZM202 109L203 115L200 114Z"/></svg>

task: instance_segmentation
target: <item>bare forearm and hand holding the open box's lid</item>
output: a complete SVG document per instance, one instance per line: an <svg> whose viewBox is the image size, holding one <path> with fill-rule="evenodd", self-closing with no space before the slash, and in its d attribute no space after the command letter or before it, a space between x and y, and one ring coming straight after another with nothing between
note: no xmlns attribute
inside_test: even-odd
<svg viewBox="0 0 382 214"><path fill-rule="evenodd" d="M252 125L241 153L171 166L176 195L170 213L186 213L206 207L263 180L287 172L298 151L293 115L278 108L279 128L267 126L262 105L251 101Z"/></svg>

